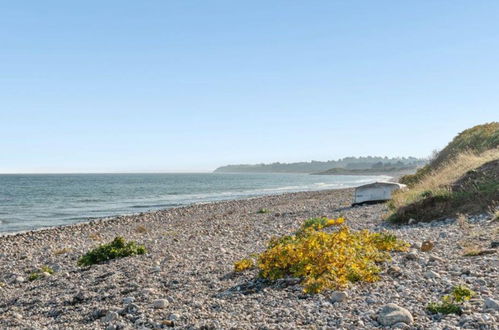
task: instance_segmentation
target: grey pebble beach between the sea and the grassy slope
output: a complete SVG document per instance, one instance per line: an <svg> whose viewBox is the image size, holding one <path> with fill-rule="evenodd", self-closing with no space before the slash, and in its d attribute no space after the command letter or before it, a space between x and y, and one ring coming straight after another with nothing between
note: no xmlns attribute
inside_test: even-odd
<svg viewBox="0 0 499 330"><path fill-rule="evenodd" d="M498 221L484 214L395 227L383 204L350 207L352 190L193 205L0 237L1 329L498 329ZM260 213L260 209L269 212ZM265 282L233 263L310 217L391 230L412 244L381 280L303 294L297 279ZM78 258L115 236L148 253L91 267ZM431 246L430 249L421 245ZM468 253L466 248L486 253ZM53 274L29 276L44 266ZM426 310L459 284L476 296L462 315Z"/></svg>

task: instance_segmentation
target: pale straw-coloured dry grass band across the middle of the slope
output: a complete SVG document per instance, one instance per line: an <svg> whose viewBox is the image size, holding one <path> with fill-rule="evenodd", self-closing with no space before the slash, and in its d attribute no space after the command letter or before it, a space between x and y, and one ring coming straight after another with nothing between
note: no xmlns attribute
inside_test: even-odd
<svg viewBox="0 0 499 330"><path fill-rule="evenodd" d="M394 193L392 207L398 209L422 200L430 194L432 196L445 196L450 193L450 185L466 172L495 159L499 159L499 149L488 150L479 155L472 152L462 153L444 166L439 167L438 170L425 176L411 189L399 190Z"/></svg>

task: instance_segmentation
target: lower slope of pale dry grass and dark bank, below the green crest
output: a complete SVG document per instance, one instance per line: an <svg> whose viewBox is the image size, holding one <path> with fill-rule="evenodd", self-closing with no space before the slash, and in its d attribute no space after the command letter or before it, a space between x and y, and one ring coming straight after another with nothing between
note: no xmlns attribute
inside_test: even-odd
<svg viewBox="0 0 499 330"><path fill-rule="evenodd" d="M393 195L389 220L431 221L458 213L488 211L499 204L499 148L464 152Z"/></svg>

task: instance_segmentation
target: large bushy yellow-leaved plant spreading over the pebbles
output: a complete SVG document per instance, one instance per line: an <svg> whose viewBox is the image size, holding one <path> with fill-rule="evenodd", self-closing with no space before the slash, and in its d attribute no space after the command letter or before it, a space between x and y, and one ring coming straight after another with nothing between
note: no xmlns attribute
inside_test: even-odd
<svg viewBox="0 0 499 330"><path fill-rule="evenodd" d="M388 252L408 249L407 243L392 234L352 231L344 222L343 218L308 219L295 234L271 239L267 250L256 257L259 276L269 280L299 277L305 292L317 293L352 282L377 281L379 264L390 259ZM321 231L333 225L340 227ZM253 266L245 260L235 264L236 271Z"/></svg>

